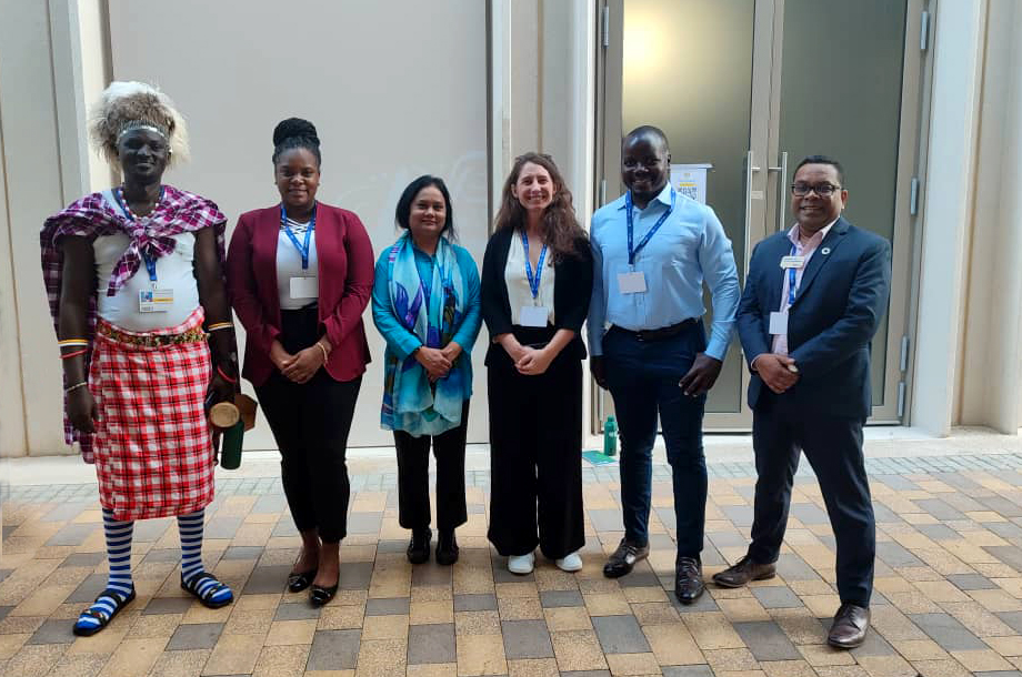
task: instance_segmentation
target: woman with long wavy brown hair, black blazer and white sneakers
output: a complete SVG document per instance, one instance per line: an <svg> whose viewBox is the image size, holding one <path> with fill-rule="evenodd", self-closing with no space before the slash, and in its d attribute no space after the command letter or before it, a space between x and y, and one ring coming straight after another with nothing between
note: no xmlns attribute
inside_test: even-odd
<svg viewBox="0 0 1022 677"><path fill-rule="evenodd" d="M549 155L518 158L482 264L490 529L508 569L582 568L582 360L592 255Z"/></svg>

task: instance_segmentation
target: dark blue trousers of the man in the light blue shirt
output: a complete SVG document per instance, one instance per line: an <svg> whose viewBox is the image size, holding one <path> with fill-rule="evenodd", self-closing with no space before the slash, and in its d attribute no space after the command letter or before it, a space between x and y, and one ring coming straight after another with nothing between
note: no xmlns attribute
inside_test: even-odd
<svg viewBox="0 0 1022 677"><path fill-rule="evenodd" d="M621 432L621 506L624 537L649 542L652 451L657 414L674 481L678 555L698 557L707 516L707 463L702 446L705 395L687 397L678 381L705 350L702 323L660 341L640 341L611 329L603 337L607 385Z"/></svg>

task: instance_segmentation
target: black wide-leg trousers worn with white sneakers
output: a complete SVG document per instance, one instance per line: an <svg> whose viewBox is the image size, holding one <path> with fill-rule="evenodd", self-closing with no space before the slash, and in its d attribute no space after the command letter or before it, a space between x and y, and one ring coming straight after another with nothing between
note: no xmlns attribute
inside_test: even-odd
<svg viewBox="0 0 1022 677"><path fill-rule="evenodd" d="M565 557L585 545L582 363L561 354L545 373L523 376L505 353L493 353L487 536L501 555L525 555L539 544L547 557Z"/></svg>

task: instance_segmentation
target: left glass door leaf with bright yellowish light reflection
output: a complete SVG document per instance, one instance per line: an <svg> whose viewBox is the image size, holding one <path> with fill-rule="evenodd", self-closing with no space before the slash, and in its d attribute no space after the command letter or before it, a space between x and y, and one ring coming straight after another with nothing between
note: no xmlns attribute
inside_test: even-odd
<svg viewBox="0 0 1022 677"><path fill-rule="evenodd" d="M672 181L702 182L731 240L744 283L750 244L765 234L766 158L774 0L609 0L598 78L603 130L600 203L620 195L621 139L641 124L668 135ZM712 316L707 295L705 307ZM751 426L738 337L707 401L707 430ZM612 398L593 383L594 430Z"/></svg>

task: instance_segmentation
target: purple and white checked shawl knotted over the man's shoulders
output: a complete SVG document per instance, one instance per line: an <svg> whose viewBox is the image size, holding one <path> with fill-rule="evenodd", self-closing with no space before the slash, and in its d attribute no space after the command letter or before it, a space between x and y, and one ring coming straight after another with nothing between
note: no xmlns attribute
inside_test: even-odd
<svg viewBox="0 0 1022 677"><path fill-rule="evenodd" d="M113 296L117 291L134 275L142 265L142 255L153 260L174 251L173 235L200 231L212 226L217 232L217 253L220 256L220 269L223 270L224 260L224 225L227 216L217 208L217 204L194 193L189 193L173 188L163 186L163 198L148 216L131 221L113 208L102 193L92 193L73 202L66 209L46 220L40 233L42 247L42 279L46 283L47 297L50 302L50 315L53 317L53 329L57 330L60 312L60 287L63 276L63 252L57 246L58 240L63 235L80 235L97 238L99 235L116 235L124 233L131 238L131 243L124 254L113 265L107 295ZM224 280L224 284L227 281ZM86 316L86 338L90 342L96 334L96 295L99 290L92 290L89 299L89 310ZM86 354L86 373L89 373L89 363L92 347ZM66 386L68 384L64 384ZM94 463L92 455L91 435L79 433L71 425L67 415L67 398L64 398L64 439L68 444L78 442L81 446L82 458L86 463Z"/></svg>

